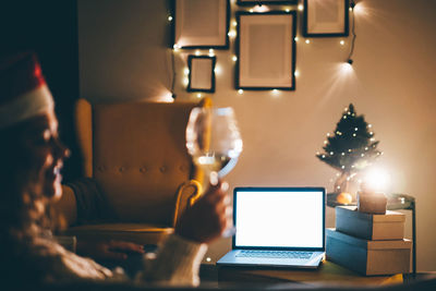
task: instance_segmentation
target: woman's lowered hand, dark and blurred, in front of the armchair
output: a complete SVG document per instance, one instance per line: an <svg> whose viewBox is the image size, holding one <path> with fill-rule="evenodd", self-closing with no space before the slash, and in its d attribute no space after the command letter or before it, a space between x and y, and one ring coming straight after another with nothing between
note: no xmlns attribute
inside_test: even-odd
<svg viewBox="0 0 436 291"><path fill-rule="evenodd" d="M131 254L144 254L144 247L136 243L123 241L77 240L77 254L97 260L124 260Z"/></svg>

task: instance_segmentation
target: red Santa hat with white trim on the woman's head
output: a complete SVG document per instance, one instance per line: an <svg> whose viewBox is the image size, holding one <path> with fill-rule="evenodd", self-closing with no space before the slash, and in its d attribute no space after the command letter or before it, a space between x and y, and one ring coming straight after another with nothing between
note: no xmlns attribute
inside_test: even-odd
<svg viewBox="0 0 436 291"><path fill-rule="evenodd" d="M35 53L0 61L0 129L49 112L53 106Z"/></svg>

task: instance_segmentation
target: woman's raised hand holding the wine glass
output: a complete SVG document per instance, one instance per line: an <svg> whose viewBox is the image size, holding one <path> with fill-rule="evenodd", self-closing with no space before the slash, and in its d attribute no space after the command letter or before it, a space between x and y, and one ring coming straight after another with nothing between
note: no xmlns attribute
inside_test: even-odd
<svg viewBox="0 0 436 291"><path fill-rule="evenodd" d="M175 234L199 243L210 243L231 227L229 184L217 181L180 217Z"/></svg>

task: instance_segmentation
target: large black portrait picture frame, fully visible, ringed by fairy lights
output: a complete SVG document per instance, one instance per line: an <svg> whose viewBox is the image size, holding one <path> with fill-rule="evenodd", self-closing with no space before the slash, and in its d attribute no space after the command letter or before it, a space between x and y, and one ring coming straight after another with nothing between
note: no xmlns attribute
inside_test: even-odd
<svg viewBox="0 0 436 291"><path fill-rule="evenodd" d="M238 12L235 88L295 89L296 12Z"/></svg>

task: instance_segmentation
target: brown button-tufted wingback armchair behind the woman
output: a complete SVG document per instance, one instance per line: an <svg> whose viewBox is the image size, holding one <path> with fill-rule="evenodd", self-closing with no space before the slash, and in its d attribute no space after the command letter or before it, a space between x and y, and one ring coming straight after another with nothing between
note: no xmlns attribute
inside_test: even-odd
<svg viewBox="0 0 436 291"><path fill-rule="evenodd" d="M208 99L93 106L78 100L76 130L85 174L112 215L84 222L77 187L63 185L55 207L66 221L65 233L140 244L156 244L171 233L202 193L202 172L185 149L185 125L193 107L208 105Z"/></svg>

